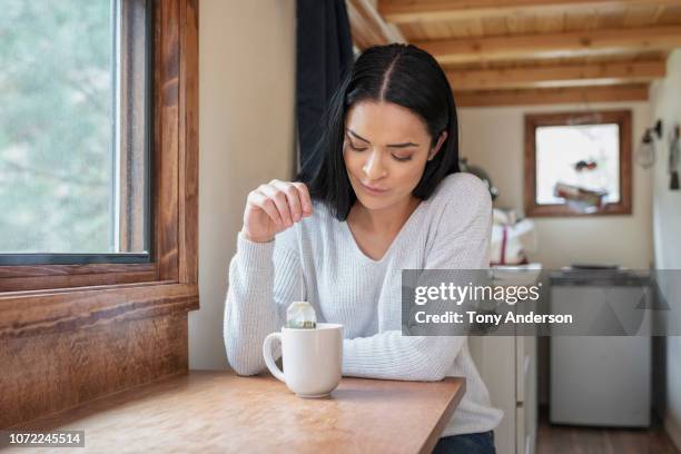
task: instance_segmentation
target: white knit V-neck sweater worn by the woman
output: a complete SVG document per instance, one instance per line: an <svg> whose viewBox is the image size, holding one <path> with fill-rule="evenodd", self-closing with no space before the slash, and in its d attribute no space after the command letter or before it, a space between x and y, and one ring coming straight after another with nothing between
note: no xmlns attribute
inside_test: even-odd
<svg viewBox="0 0 681 454"><path fill-rule="evenodd" d="M471 174L447 176L411 215L381 260L357 247L347 223L315 201L313 216L270 243L239 234L229 266L224 337L240 375L265 368L261 345L279 330L293 300L308 300L318 322L344 325L343 375L440 381L466 378L466 394L443 436L496 427L490 395L466 337L402 336L402 269L488 266L492 204Z"/></svg>

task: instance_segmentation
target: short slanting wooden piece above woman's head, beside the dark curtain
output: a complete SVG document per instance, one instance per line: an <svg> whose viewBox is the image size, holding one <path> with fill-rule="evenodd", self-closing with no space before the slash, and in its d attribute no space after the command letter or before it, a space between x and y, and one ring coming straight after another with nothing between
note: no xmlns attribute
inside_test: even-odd
<svg viewBox="0 0 681 454"><path fill-rule="evenodd" d="M359 50L371 46L406 42L402 32L381 17L368 0L346 0L353 42Z"/></svg>

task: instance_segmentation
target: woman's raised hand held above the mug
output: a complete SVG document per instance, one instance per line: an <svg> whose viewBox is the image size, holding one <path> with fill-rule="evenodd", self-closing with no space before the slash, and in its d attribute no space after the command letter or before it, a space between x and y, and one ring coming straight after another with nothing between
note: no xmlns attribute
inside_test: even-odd
<svg viewBox="0 0 681 454"><path fill-rule="evenodd" d="M275 179L248 194L241 233L251 241L272 241L276 234L310 215L307 186Z"/></svg>

